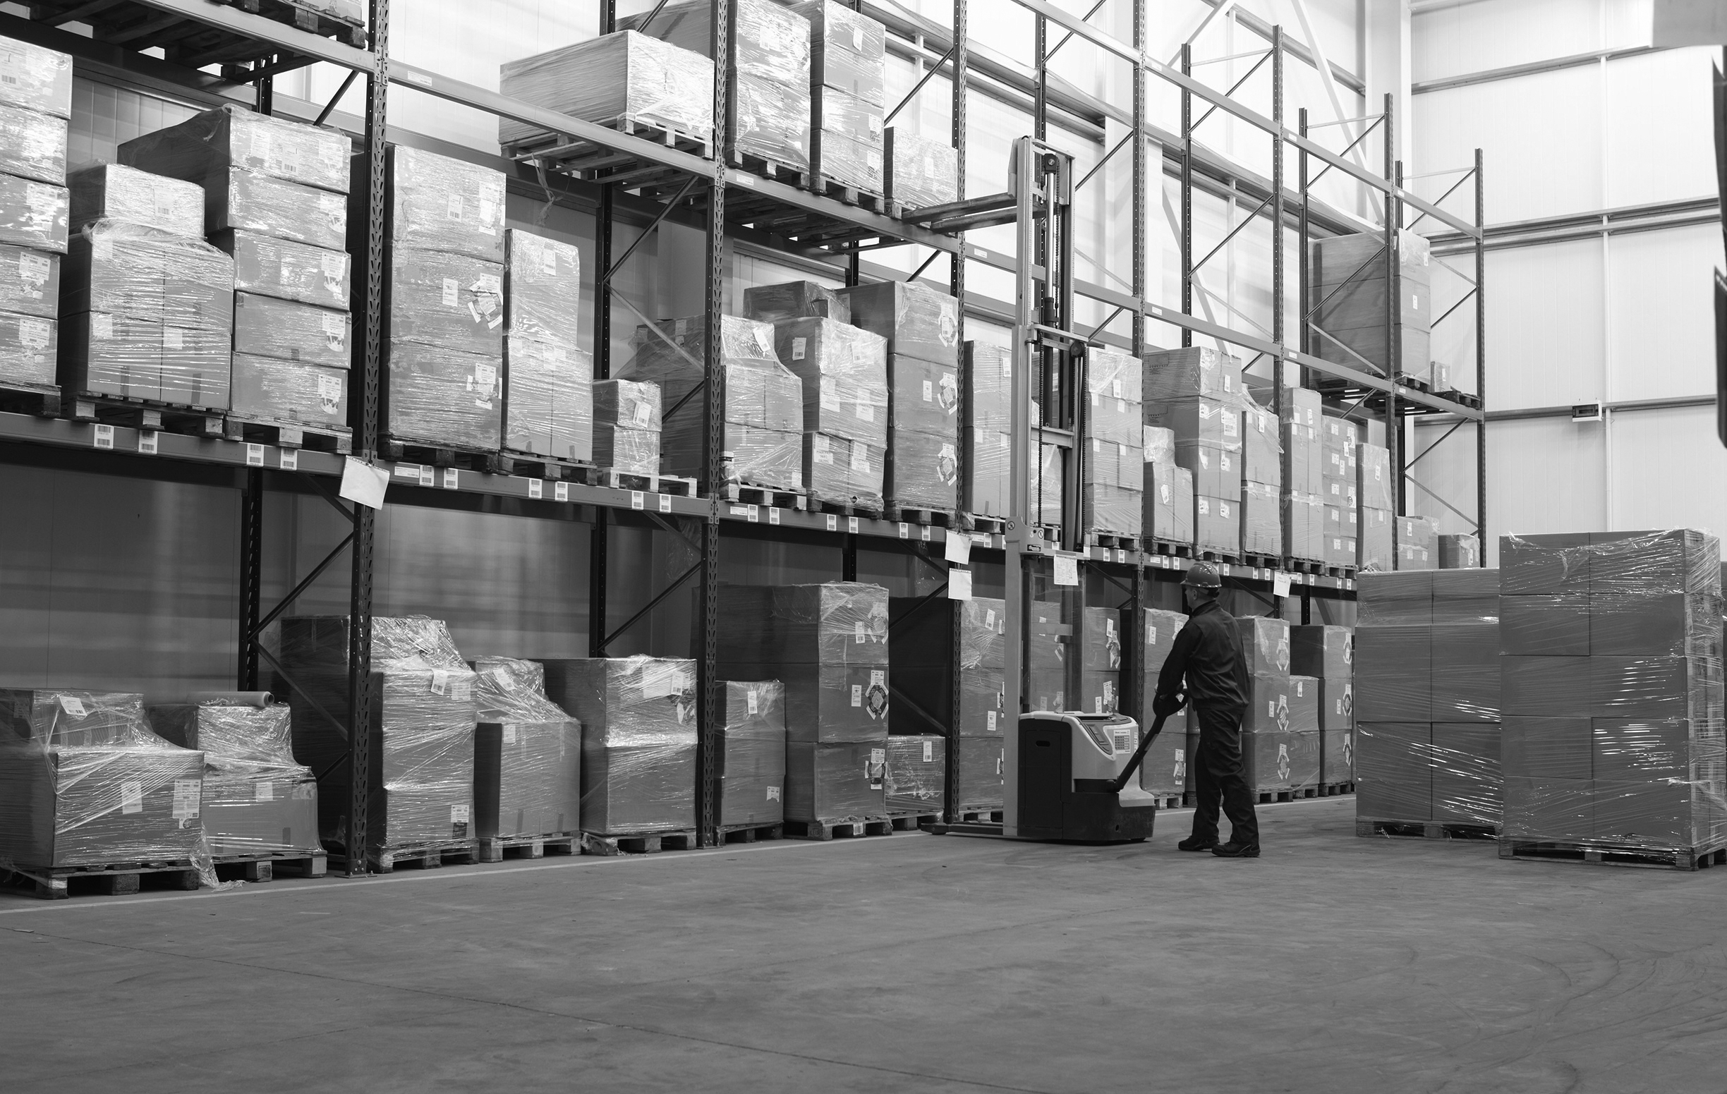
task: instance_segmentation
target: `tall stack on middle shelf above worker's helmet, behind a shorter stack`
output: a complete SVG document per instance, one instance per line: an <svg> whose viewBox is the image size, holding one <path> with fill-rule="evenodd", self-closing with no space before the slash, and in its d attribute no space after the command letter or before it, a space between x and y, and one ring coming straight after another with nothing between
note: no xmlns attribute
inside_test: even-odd
<svg viewBox="0 0 1727 1094"><path fill-rule="evenodd" d="M1193 549L1242 552L1242 364L1209 349L1145 357L1145 424L1171 430L1193 475Z"/></svg>

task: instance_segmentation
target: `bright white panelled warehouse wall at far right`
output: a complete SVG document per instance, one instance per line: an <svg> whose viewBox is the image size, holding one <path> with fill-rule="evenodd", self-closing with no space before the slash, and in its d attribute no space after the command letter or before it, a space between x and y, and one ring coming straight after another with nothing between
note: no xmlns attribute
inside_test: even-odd
<svg viewBox="0 0 1727 1094"><path fill-rule="evenodd" d="M1485 152L1489 224L1601 214L1715 193L1710 69L1715 50L1630 52L1585 64L1445 86L1509 66L1649 45L1648 0L1423 3L1413 21L1416 171ZM1461 66L1461 67L1459 67ZM1423 83L1439 83L1423 90ZM1437 197L1451 179L1420 183ZM1468 202L1447 202L1470 212ZM1447 261L1473 266L1468 255ZM1713 393L1710 274L1718 223L1585 233L1489 250L1487 402L1494 412L1672 400ZM1435 312L1466 285L1442 278ZM1463 311L1470 311L1466 305ZM1437 359L1473 376L1473 330L1449 321ZM1466 388L1468 390L1468 388ZM1416 430L1416 452L1445 426ZM1461 430L1414 480L1473 512ZM1713 407L1610 411L1492 421L1489 531L1703 526L1727 531L1727 452ZM1411 511L1445 531L1464 521L1411 487ZM1492 544L1489 559L1496 559Z"/></svg>

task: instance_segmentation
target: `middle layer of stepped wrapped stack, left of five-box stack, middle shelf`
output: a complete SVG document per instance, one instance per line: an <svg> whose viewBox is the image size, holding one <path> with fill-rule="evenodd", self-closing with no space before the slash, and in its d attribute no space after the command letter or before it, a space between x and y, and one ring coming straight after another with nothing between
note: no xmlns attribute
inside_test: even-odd
<svg viewBox="0 0 1727 1094"><path fill-rule="evenodd" d="M73 238L60 314L114 312L168 326L233 326L233 259L197 236L97 221Z"/></svg>

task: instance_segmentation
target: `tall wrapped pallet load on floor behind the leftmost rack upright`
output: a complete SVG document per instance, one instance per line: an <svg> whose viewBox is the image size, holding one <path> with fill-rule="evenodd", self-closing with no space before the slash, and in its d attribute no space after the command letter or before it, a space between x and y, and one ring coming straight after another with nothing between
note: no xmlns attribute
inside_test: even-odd
<svg viewBox="0 0 1727 1094"><path fill-rule="evenodd" d="M378 873L473 861L473 671L442 619L375 616L371 621L371 764L366 846L351 847L352 789L347 726L344 616L282 621L282 671L275 692L294 709L294 758L318 771L318 830L332 865L364 856ZM357 865L357 863L356 863Z"/></svg>

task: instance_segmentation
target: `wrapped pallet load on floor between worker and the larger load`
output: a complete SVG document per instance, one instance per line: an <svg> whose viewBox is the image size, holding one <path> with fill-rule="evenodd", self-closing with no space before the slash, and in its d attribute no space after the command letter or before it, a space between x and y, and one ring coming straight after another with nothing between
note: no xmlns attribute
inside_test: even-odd
<svg viewBox="0 0 1727 1094"><path fill-rule="evenodd" d="M1499 832L1499 571L1361 575L1356 833Z"/></svg>

